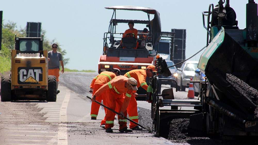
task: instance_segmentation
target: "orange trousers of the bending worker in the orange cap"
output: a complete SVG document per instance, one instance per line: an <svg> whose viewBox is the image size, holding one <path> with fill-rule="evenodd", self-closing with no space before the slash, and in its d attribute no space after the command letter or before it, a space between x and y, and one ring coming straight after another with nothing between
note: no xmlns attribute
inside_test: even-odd
<svg viewBox="0 0 258 145"><path fill-rule="evenodd" d="M129 119L138 123L138 112L137 112L137 101L135 99L135 95L132 94L129 105L127 107L127 113L129 115ZM133 127L137 126L136 124L130 122L129 127L132 129Z"/></svg>

